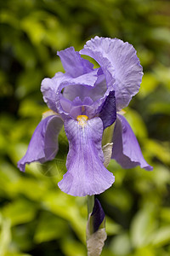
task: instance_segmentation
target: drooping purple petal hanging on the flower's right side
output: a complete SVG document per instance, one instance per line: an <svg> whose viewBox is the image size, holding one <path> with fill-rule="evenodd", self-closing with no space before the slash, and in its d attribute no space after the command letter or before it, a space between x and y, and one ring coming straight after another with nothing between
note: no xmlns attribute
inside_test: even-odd
<svg viewBox="0 0 170 256"><path fill-rule="evenodd" d="M117 114L115 130L113 133L113 154L115 159L123 168L140 166L151 171L152 166L144 160L137 138L127 120Z"/></svg>

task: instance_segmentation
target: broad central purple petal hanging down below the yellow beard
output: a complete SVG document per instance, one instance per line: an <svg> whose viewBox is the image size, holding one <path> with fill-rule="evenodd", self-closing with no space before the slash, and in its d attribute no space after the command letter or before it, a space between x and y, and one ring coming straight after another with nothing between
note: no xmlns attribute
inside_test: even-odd
<svg viewBox="0 0 170 256"><path fill-rule="evenodd" d="M65 133L69 140L68 171L58 183L59 188L69 195L85 196L102 193L111 187L114 176L103 165L102 120L95 117L84 121L82 118L79 123L67 119Z"/></svg>

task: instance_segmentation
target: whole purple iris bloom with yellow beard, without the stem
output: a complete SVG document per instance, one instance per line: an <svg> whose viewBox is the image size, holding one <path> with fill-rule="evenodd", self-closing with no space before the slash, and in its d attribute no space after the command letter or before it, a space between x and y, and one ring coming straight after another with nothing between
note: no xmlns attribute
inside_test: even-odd
<svg viewBox="0 0 170 256"><path fill-rule="evenodd" d="M143 76L133 46L116 38L95 37L80 52L70 47L58 55L65 73L42 80L43 100L52 111L37 125L26 155L18 163L20 170L34 161L54 159L64 124L69 153L59 188L75 196L102 193L115 180L104 166L101 147L103 131L115 121L112 158L123 168L152 170L127 120L116 114L138 93ZM100 67L94 68L81 55L94 58Z"/></svg>

